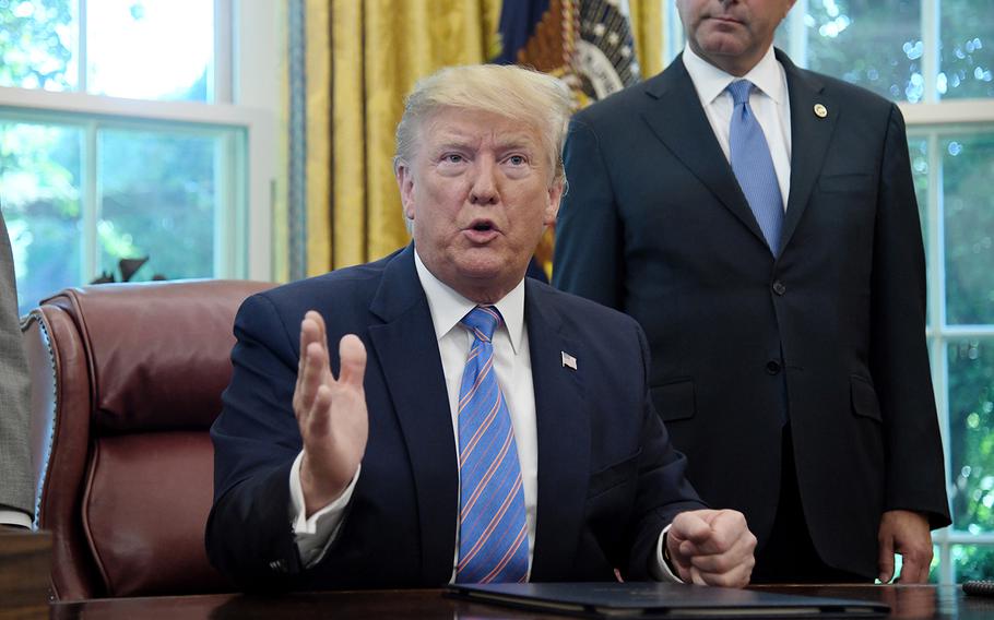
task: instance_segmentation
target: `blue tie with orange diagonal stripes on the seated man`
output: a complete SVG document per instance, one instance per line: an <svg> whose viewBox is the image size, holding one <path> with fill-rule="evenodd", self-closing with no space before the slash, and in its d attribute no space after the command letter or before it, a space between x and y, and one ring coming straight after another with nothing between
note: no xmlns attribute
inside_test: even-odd
<svg viewBox="0 0 994 620"><path fill-rule="evenodd" d="M514 429L494 371L490 342L500 324L492 306L477 306L461 325L473 334L459 390L458 583L523 582L528 527Z"/></svg>

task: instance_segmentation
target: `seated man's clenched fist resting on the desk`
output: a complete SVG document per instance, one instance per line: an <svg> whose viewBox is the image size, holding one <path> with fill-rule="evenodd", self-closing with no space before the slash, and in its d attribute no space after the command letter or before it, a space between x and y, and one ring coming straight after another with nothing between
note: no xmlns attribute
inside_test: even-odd
<svg viewBox="0 0 994 620"><path fill-rule="evenodd" d="M756 559L756 537L734 510L682 512L666 533L666 550L686 583L744 587Z"/></svg>

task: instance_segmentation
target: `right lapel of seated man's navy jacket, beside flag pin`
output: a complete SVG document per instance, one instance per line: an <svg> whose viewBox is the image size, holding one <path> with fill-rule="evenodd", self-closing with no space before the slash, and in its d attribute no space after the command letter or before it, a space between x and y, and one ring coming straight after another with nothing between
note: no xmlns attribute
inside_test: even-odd
<svg viewBox="0 0 994 620"><path fill-rule="evenodd" d="M564 351L582 365L582 350L577 341L563 333L556 303L548 297L547 289L525 279L525 324L539 433L539 509L532 581L571 572L590 470L590 422L581 374L563 365Z"/></svg>

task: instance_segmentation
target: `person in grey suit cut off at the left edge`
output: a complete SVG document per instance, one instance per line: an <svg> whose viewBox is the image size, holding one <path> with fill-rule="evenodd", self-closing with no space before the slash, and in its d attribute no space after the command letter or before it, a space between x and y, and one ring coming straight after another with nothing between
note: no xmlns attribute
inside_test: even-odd
<svg viewBox="0 0 994 620"><path fill-rule="evenodd" d="M31 383L21 343L14 260L0 215L0 527L31 527Z"/></svg>

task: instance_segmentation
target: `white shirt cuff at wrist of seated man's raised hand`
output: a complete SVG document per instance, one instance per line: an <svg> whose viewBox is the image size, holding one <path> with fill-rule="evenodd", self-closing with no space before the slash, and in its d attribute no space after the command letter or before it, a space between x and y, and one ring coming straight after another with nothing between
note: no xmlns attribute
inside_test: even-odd
<svg viewBox="0 0 994 620"><path fill-rule="evenodd" d="M321 561L328 547L334 541L339 534L339 527L345 516L345 509L352 500L352 492L355 490L355 484L359 479L359 473L363 466L359 465L352 481L330 504L317 511L310 518L307 517L307 511L304 505L304 487L300 486L300 461L304 457L301 451L294 460L289 469L289 501L291 518L294 527L294 541L297 544L297 551L300 553L300 561L305 568L311 568Z"/></svg>

